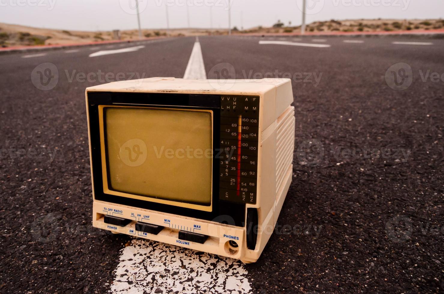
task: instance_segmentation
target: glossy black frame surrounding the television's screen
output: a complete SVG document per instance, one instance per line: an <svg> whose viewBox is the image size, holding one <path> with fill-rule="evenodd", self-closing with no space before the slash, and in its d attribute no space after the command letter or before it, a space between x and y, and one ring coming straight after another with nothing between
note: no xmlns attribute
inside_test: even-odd
<svg viewBox="0 0 444 294"><path fill-rule="evenodd" d="M100 145L99 105L137 106L175 109L200 109L213 111L213 184L212 210L210 212L161 204L150 200L132 199L103 192L102 150ZM220 141L220 95L175 94L175 93L131 93L131 92L87 92L89 131L91 140L91 163L95 200L122 204L135 208L166 212L180 216L194 217L238 227L245 226L245 204L219 200L219 159Z"/></svg>

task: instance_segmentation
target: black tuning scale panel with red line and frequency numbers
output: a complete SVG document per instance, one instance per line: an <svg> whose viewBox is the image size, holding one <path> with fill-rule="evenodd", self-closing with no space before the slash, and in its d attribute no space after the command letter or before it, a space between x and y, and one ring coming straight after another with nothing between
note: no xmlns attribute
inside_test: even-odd
<svg viewBox="0 0 444 294"><path fill-rule="evenodd" d="M256 204L259 97L221 96L219 199Z"/></svg>

